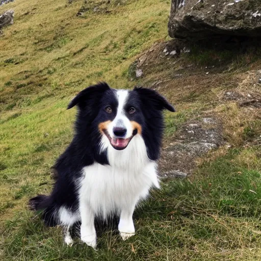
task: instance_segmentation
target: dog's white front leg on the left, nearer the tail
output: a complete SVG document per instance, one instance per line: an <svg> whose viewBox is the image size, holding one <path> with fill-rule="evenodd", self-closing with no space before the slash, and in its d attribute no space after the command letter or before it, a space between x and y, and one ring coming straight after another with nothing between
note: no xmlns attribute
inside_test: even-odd
<svg viewBox="0 0 261 261"><path fill-rule="evenodd" d="M96 247L96 231L94 227L94 213L91 211L87 202L80 200L81 240L88 246Z"/></svg>

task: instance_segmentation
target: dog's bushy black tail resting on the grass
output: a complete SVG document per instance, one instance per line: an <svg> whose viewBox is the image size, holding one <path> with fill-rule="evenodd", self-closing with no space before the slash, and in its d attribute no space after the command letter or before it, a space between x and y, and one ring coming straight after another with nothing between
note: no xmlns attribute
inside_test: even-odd
<svg viewBox="0 0 261 261"><path fill-rule="evenodd" d="M41 211L41 217L48 226L57 225L55 207L51 204L50 196L38 195L29 200L29 208L32 211Z"/></svg>

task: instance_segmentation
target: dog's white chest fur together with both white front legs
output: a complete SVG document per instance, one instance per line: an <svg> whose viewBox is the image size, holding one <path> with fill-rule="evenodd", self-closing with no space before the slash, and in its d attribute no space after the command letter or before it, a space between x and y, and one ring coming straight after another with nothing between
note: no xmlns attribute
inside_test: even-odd
<svg viewBox="0 0 261 261"><path fill-rule="evenodd" d="M148 159L139 134L120 151L103 137L101 149L106 148L110 165L94 163L85 167L79 191L81 238L92 247L96 246L95 216L106 219L112 213L120 214L119 231L125 240L135 233L132 216L137 202L148 195L151 187L159 188L156 163Z"/></svg>

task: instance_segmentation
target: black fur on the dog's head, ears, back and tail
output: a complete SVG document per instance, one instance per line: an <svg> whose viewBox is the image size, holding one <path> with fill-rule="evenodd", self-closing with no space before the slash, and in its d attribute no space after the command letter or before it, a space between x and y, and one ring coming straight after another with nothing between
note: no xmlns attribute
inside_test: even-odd
<svg viewBox="0 0 261 261"><path fill-rule="evenodd" d="M71 211L77 211L77 178L82 176L82 169L94 162L108 165L107 151L100 153L99 143L101 134L98 124L113 120L116 115L118 100L116 90L108 84L100 83L81 91L68 105L68 109L77 106L75 135L65 152L57 160L55 170L55 185L49 196L39 195L30 200L33 210L43 210L42 217L46 224L56 225L55 210L66 206ZM105 111L111 106L112 113ZM147 147L150 160L159 159L163 134L162 110L174 112L174 108L159 93L136 87L129 92L124 110L136 109L135 114L128 114L129 120L136 121L142 126L142 137ZM134 135L137 134L137 130Z"/></svg>

